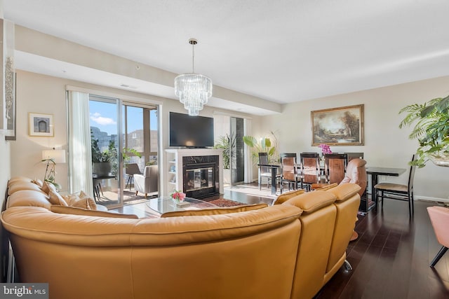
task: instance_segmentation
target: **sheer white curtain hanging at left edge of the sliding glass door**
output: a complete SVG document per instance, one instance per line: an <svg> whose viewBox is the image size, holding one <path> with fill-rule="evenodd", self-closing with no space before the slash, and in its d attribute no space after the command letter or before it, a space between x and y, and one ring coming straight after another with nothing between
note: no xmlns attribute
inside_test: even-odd
<svg viewBox="0 0 449 299"><path fill-rule="evenodd" d="M89 95L72 90L67 93L69 193L83 190L93 197Z"/></svg>

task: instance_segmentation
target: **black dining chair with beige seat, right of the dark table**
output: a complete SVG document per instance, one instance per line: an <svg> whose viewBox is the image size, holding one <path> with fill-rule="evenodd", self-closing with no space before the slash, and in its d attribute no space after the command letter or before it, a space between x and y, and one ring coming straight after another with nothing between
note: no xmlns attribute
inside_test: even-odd
<svg viewBox="0 0 449 299"><path fill-rule="evenodd" d="M415 160L415 155L412 156L412 161ZM413 179L415 177L415 165L410 165L410 172L408 173L407 185L400 183L377 183L374 186L377 195L377 202L382 199L382 209L384 208L384 198L391 200L403 200L408 202L408 214L410 217L415 212L415 204L413 202Z"/></svg>

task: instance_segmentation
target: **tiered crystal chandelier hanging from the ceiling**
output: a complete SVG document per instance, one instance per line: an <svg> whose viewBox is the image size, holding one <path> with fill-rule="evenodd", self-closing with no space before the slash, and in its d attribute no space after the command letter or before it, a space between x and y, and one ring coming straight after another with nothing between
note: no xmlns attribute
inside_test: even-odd
<svg viewBox="0 0 449 299"><path fill-rule="evenodd" d="M182 74L175 78L175 95L180 98L189 116L198 116L203 105L212 97L212 80L201 74L195 74L195 50L198 41L189 39L192 45L192 73Z"/></svg>

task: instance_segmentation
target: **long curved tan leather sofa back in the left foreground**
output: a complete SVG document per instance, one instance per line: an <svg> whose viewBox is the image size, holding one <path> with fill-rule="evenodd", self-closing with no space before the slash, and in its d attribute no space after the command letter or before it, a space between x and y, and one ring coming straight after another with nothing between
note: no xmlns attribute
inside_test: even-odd
<svg viewBox="0 0 449 299"><path fill-rule="evenodd" d="M50 298L290 298L301 212L126 219L10 207L1 222L20 279L50 282Z"/></svg>

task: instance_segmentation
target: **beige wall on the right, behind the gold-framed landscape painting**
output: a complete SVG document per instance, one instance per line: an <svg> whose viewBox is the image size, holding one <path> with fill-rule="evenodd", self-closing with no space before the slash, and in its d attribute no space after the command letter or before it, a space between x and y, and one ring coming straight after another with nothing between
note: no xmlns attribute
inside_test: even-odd
<svg viewBox="0 0 449 299"><path fill-rule="evenodd" d="M403 119L403 115L398 112L408 104L423 103L447 95L449 76L297 102L285 105L281 115L264 117L260 130L278 132L281 152L318 151L319 148L311 146L310 111L364 104L365 145L331 146L332 151L363 152L368 166L408 168L407 162L418 144L416 140L408 139L411 128L398 128ZM436 167L431 162L422 169L416 169L415 195L448 200L448 176L449 168ZM381 179L406 183L408 172L398 178Z"/></svg>

